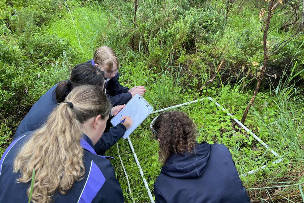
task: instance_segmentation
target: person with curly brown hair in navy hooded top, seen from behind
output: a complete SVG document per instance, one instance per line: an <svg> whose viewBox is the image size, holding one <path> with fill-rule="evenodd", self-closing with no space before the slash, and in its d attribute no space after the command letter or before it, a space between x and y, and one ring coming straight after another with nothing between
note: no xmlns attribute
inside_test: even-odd
<svg viewBox="0 0 304 203"><path fill-rule="evenodd" d="M196 127L188 115L161 114L151 130L163 164L154 183L156 202L250 202L228 148L197 143Z"/></svg>

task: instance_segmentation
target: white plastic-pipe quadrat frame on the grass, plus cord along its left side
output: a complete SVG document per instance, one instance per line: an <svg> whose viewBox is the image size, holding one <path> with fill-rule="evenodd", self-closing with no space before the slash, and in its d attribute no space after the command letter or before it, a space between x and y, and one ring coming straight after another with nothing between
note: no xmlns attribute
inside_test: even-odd
<svg viewBox="0 0 304 203"><path fill-rule="evenodd" d="M210 101L214 102L217 106L219 106L223 111L226 111L226 112L227 112L227 115L229 115L235 122L237 122L242 128L244 128L244 130L246 130L247 132L249 132L251 136L253 136L259 143L261 143L261 144L266 148L266 150L269 150L273 155L275 155L275 157L278 158L277 160L275 160L274 162L272 162L272 164L277 164L277 163L280 163L280 162L282 162L282 161L284 160L280 155L278 155L277 152L273 151L266 143L264 143L259 137L257 137L257 135L255 135L251 130L249 130L246 126L244 126L238 119L234 118L233 115L230 114L230 113L229 113L226 109L224 109L221 105L219 105L219 103L217 103L216 101L214 101L213 98L211 98L211 97L207 97L207 98L208 98ZM168 108L156 110L156 111L151 112L151 114L152 114L152 113L162 112L162 111L165 111L165 110L168 110L168 109L175 109L175 108L177 108L177 107L184 106L184 105L188 105L188 104L192 104L192 103L195 103L195 102L199 102L199 101L202 101L202 100L204 100L204 99L205 99L205 98L202 98L202 99L199 99L199 100L194 100L194 101L191 101L191 102L186 102L186 103L183 103L183 104L179 104L179 105L171 106L171 107L168 107ZM155 119L156 119L156 118L154 118L154 119L152 120L151 124L154 122ZM136 161L136 164L137 164L137 166L138 166L138 169L139 169L139 171L140 171L140 175L141 175L141 177L143 178L143 183L144 183L144 185L145 185L145 187L146 187L146 189L147 189L147 192L148 192L150 201L151 201L152 203L154 203L153 196L152 196L152 194L151 194L151 191L150 191L150 188L149 188L149 186L148 186L147 180L144 178L143 170L141 169L140 163L139 163L139 161L138 161L138 158L137 158L137 155L136 155L135 150L134 150L134 148L133 148L133 144L132 144L132 142L131 142L131 140L130 140L130 137L127 137L127 139L128 139L129 144L130 144L130 148L131 148L131 150L132 150L132 153L133 153L133 156L134 156L134 158L135 158L135 161ZM118 151L118 144L117 144L117 151ZM119 154L119 151L118 151L118 154ZM119 155L119 158L120 158L120 155ZM121 163L122 163L121 158L120 158L120 161L121 161ZM122 166L123 166L123 164L122 164ZM257 168L257 169L255 169L255 170L251 170L251 171L249 171L249 172L247 172L247 173L244 173L244 174L242 174L242 176L244 177L244 176L247 176L247 175L249 175L249 174L253 174L253 173L255 173L255 172L257 172L257 171L259 171L259 170L261 170L261 169L264 169L266 166L267 166L267 164L264 165L264 166L261 166L261 167L259 167L259 168ZM123 169L124 169L124 167L123 167ZM125 170L125 169L124 169L124 172L125 172L125 174L126 174L126 170ZM132 200L133 200L133 195L132 195L132 192L131 192L131 189L130 189L130 183L129 183L127 174L126 174L126 177L127 177L127 182L128 182L128 186L129 186L129 191L130 191L130 194L131 194L131 197L132 197ZM134 201L133 201L133 202L134 202Z"/></svg>

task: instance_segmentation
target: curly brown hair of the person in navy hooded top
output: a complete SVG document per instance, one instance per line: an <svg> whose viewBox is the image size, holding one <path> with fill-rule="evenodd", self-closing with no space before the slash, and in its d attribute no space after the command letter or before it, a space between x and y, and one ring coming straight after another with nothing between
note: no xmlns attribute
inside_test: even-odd
<svg viewBox="0 0 304 203"><path fill-rule="evenodd" d="M154 123L159 142L159 162L165 164L173 153L193 152L196 145L196 127L183 112L161 114Z"/></svg>

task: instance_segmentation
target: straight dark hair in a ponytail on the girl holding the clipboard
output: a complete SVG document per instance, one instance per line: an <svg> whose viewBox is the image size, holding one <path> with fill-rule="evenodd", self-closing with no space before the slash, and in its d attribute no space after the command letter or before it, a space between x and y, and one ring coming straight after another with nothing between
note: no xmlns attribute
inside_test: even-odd
<svg viewBox="0 0 304 203"><path fill-rule="evenodd" d="M103 72L90 63L80 63L76 65L70 73L70 79L61 81L56 87L56 99L58 103L64 101L65 97L71 92L74 87L80 85L96 85L104 86Z"/></svg>

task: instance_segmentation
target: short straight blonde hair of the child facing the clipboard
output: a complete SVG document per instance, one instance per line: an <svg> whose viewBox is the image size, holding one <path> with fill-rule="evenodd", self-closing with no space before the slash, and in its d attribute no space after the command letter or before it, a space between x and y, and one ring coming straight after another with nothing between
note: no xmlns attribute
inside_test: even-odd
<svg viewBox="0 0 304 203"><path fill-rule="evenodd" d="M99 47L94 53L94 62L101 65L106 71L111 71L113 64L119 68L119 61L114 50L108 46Z"/></svg>

